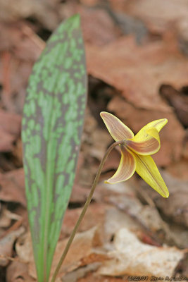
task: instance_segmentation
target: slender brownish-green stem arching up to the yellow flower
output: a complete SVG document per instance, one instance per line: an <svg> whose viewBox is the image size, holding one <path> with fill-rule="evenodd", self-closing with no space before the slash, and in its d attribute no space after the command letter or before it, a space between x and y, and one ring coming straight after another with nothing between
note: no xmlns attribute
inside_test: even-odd
<svg viewBox="0 0 188 282"><path fill-rule="evenodd" d="M96 185L97 185L97 183L98 183L98 181L99 181L99 177L100 177L100 175L101 175L101 171L102 171L102 168L103 168L103 166L104 166L104 163L105 163L105 161L106 161L106 159L107 159L107 157L108 157L108 154L110 154L111 150L112 150L115 146L121 145L122 143L123 143L123 141L114 142L114 143L108 148L108 150L106 151L106 153L104 154L104 157L103 157L103 159L101 160L101 164L99 165L98 171L97 171L96 176L95 176L95 178L94 178L94 183L93 183L93 185L92 185L92 189L91 189L91 191L89 192L89 196L87 197L87 201L86 201L85 204L84 204L84 207L83 207L82 212L81 212L81 214L80 214L80 216L79 216L79 219L77 220L77 223L76 223L76 225L75 225L75 227L74 227L74 229L73 229L73 231L72 231L72 233L71 233L71 235L70 235L70 238L69 238L69 240L68 240L68 243L67 243L67 245L65 246L65 250L63 251L63 255L61 256L61 259L59 260L58 265L56 266L56 270L55 270L55 272L54 272L53 277L51 278L51 282L55 282L55 281L56 281L56 277L57 277L57 275L58 275L58 271L59 271L59 269L61 268L61 265L63 264L63 261L64 261L66 255L67 255L67 253L68 253L68 250L69 250L69 248L70 248L70 245L71 245L71 243L73 242L73 239L75 238L75 234L76 234L76 232L77 232L77 228L80 226L80 223L81 223L81 221L82 221L82 219L83 219L83 217L84 217L84 214L86 213L87 208L89 207L89 204L90 204L90 202L91 202L91 200L92 200L92 197L93 197L93 195L94 195L94 190L95 190Z"/></svg>

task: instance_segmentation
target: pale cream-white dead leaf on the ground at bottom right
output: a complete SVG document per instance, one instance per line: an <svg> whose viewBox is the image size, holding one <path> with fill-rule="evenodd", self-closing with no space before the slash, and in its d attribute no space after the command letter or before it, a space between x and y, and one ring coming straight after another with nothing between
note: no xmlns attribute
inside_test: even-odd
<svg viewBox="0 0 188 282"><path fill-rule="evenodd" d="M122 228L115 234L115 250L108 253L109 260L99 274L120 276L172 276L184 251L176 247L153 247L141 243L134 233Z"/></svg>

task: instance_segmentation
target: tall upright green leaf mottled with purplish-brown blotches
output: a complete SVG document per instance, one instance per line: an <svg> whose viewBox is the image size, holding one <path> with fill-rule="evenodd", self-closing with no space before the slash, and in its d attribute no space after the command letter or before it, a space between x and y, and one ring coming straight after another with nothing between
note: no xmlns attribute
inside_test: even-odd
<svg viewBox="0 0 188 282"><path fill-rule="evenodd" d="M39 282L51 262L75 178L87 75L80 17L62 23L30 76L23 110L27 209Z"/></svg>

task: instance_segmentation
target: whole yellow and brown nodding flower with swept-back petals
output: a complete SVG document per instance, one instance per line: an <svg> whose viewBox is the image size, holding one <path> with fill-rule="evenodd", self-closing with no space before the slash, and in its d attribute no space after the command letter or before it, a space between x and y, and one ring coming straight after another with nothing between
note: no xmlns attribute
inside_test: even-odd
<svg viewBox="0 0 188 282"><path fill-rule="evenodd" d="M101 112L106 128L115 141L122 141L120 145L121 159L118 170L106 180L106 183L123 182L136 171L161 196L168 197L165 185L151 154L155 154L161 147L159 131L168 122L166 118L151 121L139 133L134 133L122 121L105 111Z"/></svg>

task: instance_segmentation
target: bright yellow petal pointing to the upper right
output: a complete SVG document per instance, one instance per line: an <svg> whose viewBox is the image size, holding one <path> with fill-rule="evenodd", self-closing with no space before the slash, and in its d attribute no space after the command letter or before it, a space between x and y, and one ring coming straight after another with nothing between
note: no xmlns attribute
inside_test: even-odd
<svg viewBox="0 0 188 282"><path fill-rule="evenodd" d="M135 142L142 142L146 137L148 136L148 130L151 128L156 128L156 130L159 131L163 128L163 126L168 123L168 120L166 118L161 118L156 121L151 121L151 123L146 124L137 135L134 136Z"/></svg>

